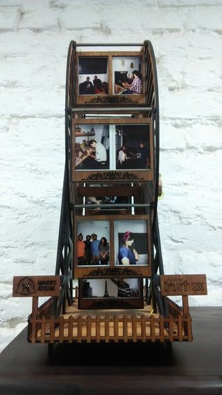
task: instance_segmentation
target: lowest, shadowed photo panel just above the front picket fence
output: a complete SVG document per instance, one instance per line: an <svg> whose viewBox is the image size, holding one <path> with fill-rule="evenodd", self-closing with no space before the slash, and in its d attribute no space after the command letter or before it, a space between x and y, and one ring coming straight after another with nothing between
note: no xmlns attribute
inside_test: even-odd
<svg viewBox="0 0 222 395"><path fill-rule="evenodd" d="M142 278L87 278L78 289L78 309L144 308Z"/></svg>

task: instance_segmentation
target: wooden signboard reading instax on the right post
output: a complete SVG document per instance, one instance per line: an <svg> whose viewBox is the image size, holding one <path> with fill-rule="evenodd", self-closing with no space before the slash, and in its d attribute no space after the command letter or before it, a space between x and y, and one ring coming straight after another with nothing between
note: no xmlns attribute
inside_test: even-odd
<svg viewBox="0 0 222 395"><path fill-rule="evenodd" d="M160 276L162 296L207 295L205 274L181 274Z"/></svg>

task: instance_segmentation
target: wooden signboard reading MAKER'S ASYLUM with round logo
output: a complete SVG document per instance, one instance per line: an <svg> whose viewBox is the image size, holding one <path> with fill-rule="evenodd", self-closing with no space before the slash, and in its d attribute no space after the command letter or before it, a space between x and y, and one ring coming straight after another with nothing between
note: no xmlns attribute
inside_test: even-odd
<svg viewBox="0 0 222 395"><path fill-rule="evenodd" d="M58 296L60 276L15 276L13 278L14 297Z"/></svg>

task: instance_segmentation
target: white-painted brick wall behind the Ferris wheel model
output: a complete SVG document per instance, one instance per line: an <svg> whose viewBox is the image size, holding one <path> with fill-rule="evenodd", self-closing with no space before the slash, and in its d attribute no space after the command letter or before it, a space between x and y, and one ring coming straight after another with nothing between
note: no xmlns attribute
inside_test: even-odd
<svg viewBox="0 0 222 395"><path fill-rule="evenodd" d="M12 277L55 271L73 39L153 43L164 269L207 274L190 304L221 305L221 20L221 0L0 0L1 349L31 311Z"/></svg>

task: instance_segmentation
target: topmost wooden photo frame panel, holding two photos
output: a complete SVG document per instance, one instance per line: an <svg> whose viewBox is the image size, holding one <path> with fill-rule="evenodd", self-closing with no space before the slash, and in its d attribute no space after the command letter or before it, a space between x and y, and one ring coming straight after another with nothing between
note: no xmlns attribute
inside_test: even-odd
<svg viewBox="0 0 222 395"><path fill-rule="evenodd" d="M142 81L142 93L121 94L115 93L114 72L119 58L121 63L126 62L128 82L136 67ZM135 66L135 69L132 69ZM114 71L113 71L114 70ZM143 51L83 51L76 53L76 103L87 106L132 106L145 104L145 65ZM97 78L95 78L95 76Z"/></svg>

